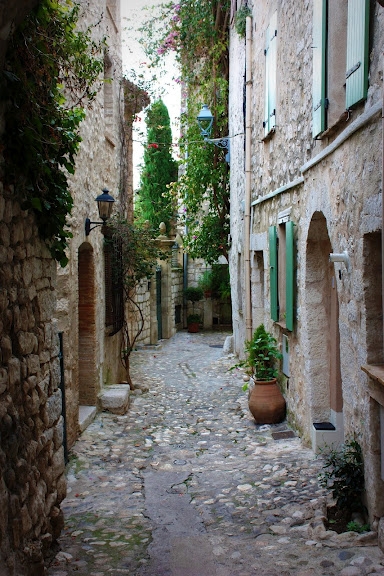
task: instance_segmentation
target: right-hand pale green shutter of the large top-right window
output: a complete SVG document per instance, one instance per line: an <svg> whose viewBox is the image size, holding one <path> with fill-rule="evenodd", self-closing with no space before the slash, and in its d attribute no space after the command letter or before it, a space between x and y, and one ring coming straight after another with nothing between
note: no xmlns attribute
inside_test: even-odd
<svg viewBox="0 0 384 576"><path fill-rule="evenodd" d="M369 0L348 0L346 108L367 97Z"/></svg>

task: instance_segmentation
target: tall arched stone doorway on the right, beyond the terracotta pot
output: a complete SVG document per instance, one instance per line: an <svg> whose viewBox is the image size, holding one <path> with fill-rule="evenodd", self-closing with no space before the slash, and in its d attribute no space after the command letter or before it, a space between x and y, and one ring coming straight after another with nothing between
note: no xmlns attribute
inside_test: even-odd
<svg viewBox="0 0 384 576"><path fill-rule="evenodd" d="M307 306L310 425L316 450L344 439L340 372L339 305L327 223L315 212L308 231L305 299Z"/></svg>

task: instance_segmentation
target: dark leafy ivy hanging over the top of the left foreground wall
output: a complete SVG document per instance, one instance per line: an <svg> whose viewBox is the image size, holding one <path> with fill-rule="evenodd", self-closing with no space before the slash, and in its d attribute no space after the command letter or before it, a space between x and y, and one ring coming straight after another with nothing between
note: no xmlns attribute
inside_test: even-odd
<svg viewBox="0 0 384 576"><path fill-rule="evenodd" d="M68 174L75 171L79 126L99 88L106 47L105 39L92 39L99 22L79 30L79 16L76 2L41 0L11 36L0 76L5 184L35 213L41 237L63 266L73 204Z"/></svg>

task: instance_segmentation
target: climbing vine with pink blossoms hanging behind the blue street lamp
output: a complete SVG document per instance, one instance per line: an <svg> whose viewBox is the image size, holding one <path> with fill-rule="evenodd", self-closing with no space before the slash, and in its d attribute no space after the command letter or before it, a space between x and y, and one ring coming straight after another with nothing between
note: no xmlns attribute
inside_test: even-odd
<svg viewBox="0 0 384 576"><path fill-rule="evenodd" d="M174 51L184 85L180 138L182 176L172 186L181 198L184 247L208 263L228 255L229 172L225 152L205 143L196 123L202 104L214 117L212 138L228 135L229 0L181 0L141 28L153 65ZM164 32L165 30L165 32Z"/></svg>

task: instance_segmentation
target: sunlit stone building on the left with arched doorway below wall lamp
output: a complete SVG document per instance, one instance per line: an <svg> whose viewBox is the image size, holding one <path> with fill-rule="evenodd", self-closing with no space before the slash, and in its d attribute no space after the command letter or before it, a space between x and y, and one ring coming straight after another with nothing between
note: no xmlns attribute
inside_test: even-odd
<svg viewBox="0 0 384 576"><path fill-rule="evenodd" d="M106 37L108 47L103 84L82 122L71 178L69 263L58 269L56 317L63 334L68 447L100 408L103 387L125 380L103 229L95 227L87 235L84 223L86 218L100 221L95 199L104 188L115 199L113 211L132 217L132 122L149 103L146 93L122 77L120 0L93 2L84 18L85 25L98 22L95 37Z"/></svg>

